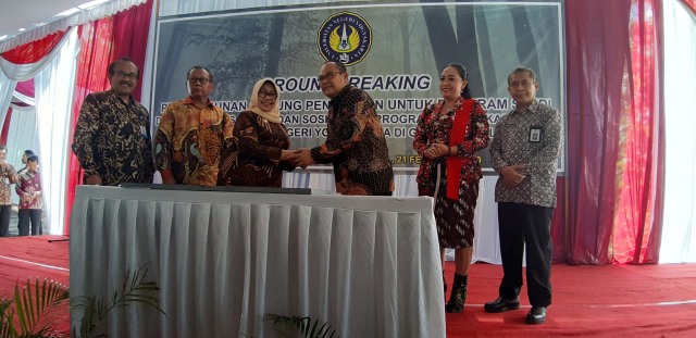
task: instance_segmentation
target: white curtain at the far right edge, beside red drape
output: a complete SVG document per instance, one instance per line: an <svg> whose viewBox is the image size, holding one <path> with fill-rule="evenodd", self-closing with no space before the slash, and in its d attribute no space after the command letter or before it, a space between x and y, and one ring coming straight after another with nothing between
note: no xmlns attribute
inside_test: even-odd
<svg viewBox="0 0 696 338"><path fill-rule="evenodd" d="M660 263L696 262L696 17L663 3L666 163Z"/></svg>

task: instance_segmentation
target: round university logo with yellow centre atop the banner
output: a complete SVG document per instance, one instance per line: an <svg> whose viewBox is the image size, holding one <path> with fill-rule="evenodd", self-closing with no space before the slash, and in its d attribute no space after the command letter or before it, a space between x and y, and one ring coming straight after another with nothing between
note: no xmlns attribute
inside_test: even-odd
<svg viewBox="0 0 696 338"><path fill-rule="evenodd" d="M370 52L372 27L356 13L336 13L319 28L316 45L324 60L353 65Z"/></svg>

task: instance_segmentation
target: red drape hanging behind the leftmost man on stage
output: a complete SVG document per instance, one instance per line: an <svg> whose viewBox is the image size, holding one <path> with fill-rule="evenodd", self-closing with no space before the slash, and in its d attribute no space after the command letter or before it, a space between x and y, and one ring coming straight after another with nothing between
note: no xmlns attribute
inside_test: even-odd
<svg viewBox="0 0 696 338"><path fill-rule="evenodd" d="M94 91L109 88L109 63L121 57L130 58L142 71L147 49L152 1L123 11L114 16L87 23L78 27L80 50L77 59L77 78L73 95L73 120L71 134L77 123L79 108L85 97ZM142 77L142 76L141 76ZM140 87L133 96L140 100ZM64 233L70 234L70 216L75 199L75 186L82 183L79 162L69 149L69 177L65 196Z"/></svg>

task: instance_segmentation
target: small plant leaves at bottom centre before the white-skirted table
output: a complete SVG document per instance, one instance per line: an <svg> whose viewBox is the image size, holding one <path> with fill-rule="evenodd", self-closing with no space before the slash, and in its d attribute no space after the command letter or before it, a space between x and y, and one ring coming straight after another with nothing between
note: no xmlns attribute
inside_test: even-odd
<svg viewBox="0 0 696 338"><path fill-rule="evenodd" d="M311 317L266 314L264 321L271 322L272 328L283 337L338 338L336 329L328 323L320 323Z"/></svg>

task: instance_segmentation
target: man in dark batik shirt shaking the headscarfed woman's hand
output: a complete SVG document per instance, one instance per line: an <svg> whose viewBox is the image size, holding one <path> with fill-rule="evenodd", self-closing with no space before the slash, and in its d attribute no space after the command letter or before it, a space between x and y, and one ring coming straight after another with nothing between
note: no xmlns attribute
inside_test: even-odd
<svg viewBox="0 0 696 338"><path fill-rule="evenodd" d="M336 191L343 195L390 196L394 172L382 123L372 98L348 84L346 66L326 62L319 84L331 99L326 118L326 142L298 150L293 163L333 163Z"/></svg>

